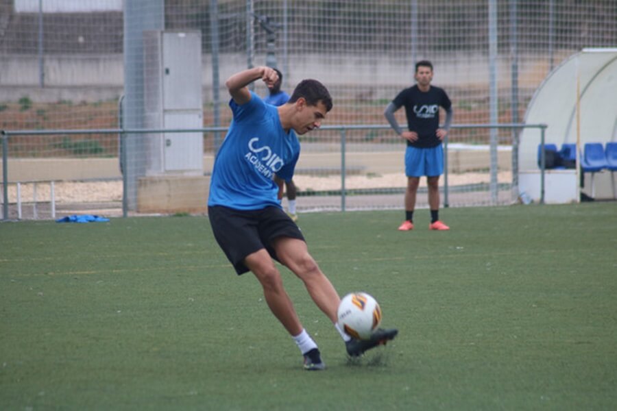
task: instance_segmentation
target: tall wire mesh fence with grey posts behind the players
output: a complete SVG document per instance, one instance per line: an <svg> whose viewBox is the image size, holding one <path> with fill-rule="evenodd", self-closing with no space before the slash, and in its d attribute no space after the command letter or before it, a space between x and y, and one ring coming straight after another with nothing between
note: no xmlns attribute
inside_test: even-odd
<svg viewBox="0 0 617 411"><path fill-rule="evenodd" d="M573 54L585 47L617 44L615 5L615 0L0 1L0 129L62 132L6 134L9 175L16 169L24 173L4 184L4 191L13 198L20 182L21 194L32 197L32 203L49 202L44 196L50 195L47 186L54 181L54 200L76 203L85 200L64 195L64 182L93 182L101 205L115 210L128 202L129 212L139 212L139 184L149 172L145 156L152 145L143 144L149 143L147 133L126 130L227 125L230 110L221 80L249 66L269 64L284 73L287 91L304 78L326 84L335 97L328 118L346 127L344 132L324 127L301 139L301 162L314 160L318 166L299 164L298 210L376 208L385 203L402 207L404 150L385 125L383 110L402 88L413 84L415 62L428 59L435 66L433 84L450 96L455 123L485 125L452 128L444 202L459 206L512 201L518 195L513 190L517 140L527 139L515 129L486 125L544 122L524 119L530 99ZM191 106L195 122L146 122L152 116L149 86L158 86L164 78L157 70L160 65L154 64L160 50L145 42L145 32L153 31L200 36L196 53L201 60L180 64L195 71L197 81L189 85L199 97ZM178 62L175 56L170 60ZM179 99L186 97L186 90L172 89ZM263 84L254 84L254 90L267 93ZM122 116L121 95L126 96ZM157 111L159 119L165 114ZM404 122L403 110L396 116ZM352 125L365 128L348 127ZM88 134L63 132L67 129ZM101 129L113 131L91 134ZM193 129L204 133L207 173L221 132ZM344 169L341 134L346 140ZM558 134L551 126L547 140L563 138ZM535 143L535 136L531 140ZM117 158L121 141L128 153L124 173L119 172ZM496 177L490 171L494 162ZM58 172L69 163L73 173ZM42 166L47 175L29 172ZM105 171L98 173L98 166ZM535 164L533 168L535 172ZM341 170L346 173L345 186L339 181ZM43 181L49 184L36 190ZM502 195L507 189L511 194ZM180 193L189 195L187 190ZM323 201L317 203L317 198Z"/></svg>

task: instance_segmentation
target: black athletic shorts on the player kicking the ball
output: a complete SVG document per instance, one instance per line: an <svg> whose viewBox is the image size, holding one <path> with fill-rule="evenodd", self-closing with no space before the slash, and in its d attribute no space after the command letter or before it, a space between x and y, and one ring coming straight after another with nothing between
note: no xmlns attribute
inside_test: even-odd
<svg viewBox="0 0 617 411"><path fill-rule="evenodd" d="M289 216L278 207L262 210L234 210L223 206L208 207L212 232L238 275L249 271L244 259L263 248L278 261L271 241L278 237L304 236Z"/></svg>

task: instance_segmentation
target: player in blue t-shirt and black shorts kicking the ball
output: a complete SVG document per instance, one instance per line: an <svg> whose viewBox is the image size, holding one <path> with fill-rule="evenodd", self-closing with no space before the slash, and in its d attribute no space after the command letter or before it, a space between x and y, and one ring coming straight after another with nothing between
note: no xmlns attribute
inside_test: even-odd
<svg viewBox="0 0 617 411"><path fill-rule="evenodd" d="M208 217L238 275L251 271L261 283L271 312L300 348L304 369L322 370L326 365L317 344L302 327L273 258L304 282L317 307L335 324L350 356L387 343L398 331L379 329L370 340L355 340L340 329L339 295L278 201L279 184L293 177L300 155L296 134L322 124L332 108L330 93L317 80L307 79L296 86L287 103L274 107L247 88L258 79L269 85L278 75L261 66L236 73L226 82L233 121L215 160Z"/></svg>

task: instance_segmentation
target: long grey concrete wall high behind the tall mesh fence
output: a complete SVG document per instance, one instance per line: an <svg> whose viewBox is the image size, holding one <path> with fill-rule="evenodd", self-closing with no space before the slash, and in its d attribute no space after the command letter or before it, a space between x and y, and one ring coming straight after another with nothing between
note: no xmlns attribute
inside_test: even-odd
<svg viewBox="0 0 617 411"><path fill-rule="evenodd" d="M487 55L444 53L435 55L435 84L444 87L487 90L489 66ZM39 62L36 55L3 55L0 59L0 101L17 101L28 95L34 101L99 101L117 98L123 92L123 55L45 55L45 88L39 86ZM223 54L219 59L221 83L246 66L244 53ZM370 98L391 98L392 90L413 84L413 66L396 55L290 55L287 88L301 79L319 78L332 88L366 86ZM265 64L258 56L254 64ZM510 86L510 66L500 60L500 87ZM546 55L522 55L519 64L520 87L533 88L548 73ZM202 59L204 102L211 101L212 62Z"/></svg>

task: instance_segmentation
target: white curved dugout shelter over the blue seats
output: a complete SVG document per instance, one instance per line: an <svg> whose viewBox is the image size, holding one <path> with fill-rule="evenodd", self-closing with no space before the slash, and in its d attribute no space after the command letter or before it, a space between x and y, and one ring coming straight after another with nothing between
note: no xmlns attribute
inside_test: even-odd
<svg viewBox="0 0 617 411"><path fill-rule="evenodd" d="M525 123L544 123L545 143L576 144L582 152L587 142L605 145L617 141L617 48L583 49L555 70L537 88L527 112ZM537 147L540 134L535 129L523 129L520 134L520 192L532 199L540 198L540 170ZM545 201L567 203L579 201L579 166L574 170L547 170ZM604 176L603 176L604 175ZM596 177L596 197L612 197L610 172ZM585 181L585 191L590 183Z"/></svg>

